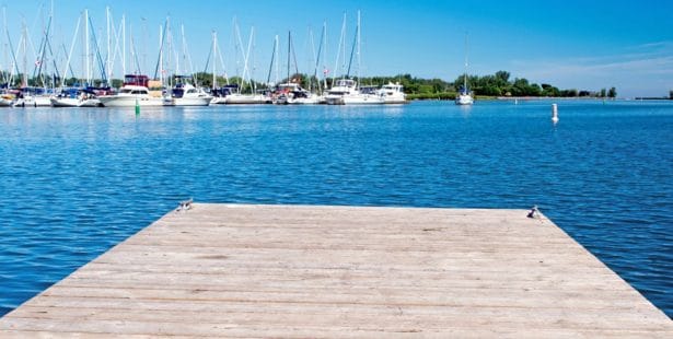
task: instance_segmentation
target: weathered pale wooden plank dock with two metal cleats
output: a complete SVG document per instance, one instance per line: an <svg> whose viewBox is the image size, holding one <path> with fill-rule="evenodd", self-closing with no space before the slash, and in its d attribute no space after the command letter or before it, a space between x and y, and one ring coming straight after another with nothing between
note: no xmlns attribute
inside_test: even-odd
<svg viewBox="0 0 673 339"><path fill-rule="evenodd" d="M195 203L0 319L0 337L673 338L524 210Z"/></svg>

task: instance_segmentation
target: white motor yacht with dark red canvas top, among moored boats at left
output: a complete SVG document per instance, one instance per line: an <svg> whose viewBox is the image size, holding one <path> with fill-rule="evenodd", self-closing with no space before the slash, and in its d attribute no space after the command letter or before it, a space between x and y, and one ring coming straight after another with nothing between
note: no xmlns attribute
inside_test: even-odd
<svg viewBox="0 0 673 339"><path fill-rule="evenodd" d="M105 107L163 106L163 98L150 95L147 75L128 74L124 85L115 95L98 96Z"/></svg>

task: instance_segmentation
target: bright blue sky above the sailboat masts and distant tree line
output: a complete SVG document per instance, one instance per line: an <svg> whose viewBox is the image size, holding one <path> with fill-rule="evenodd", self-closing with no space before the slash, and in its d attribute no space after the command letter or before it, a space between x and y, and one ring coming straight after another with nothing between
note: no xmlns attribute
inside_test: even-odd
<svg viewBox="0 0 673 339"><path fill-rule="evenodd" d="M244 45L254 26L251 63L254 78L262 81L266 80L276 34L281 37L280 69L286 69L288 31L292 31L299 70L312 72L309 32L313 31L317 45L326 22L327 59L321 63L334 72L343 15L347 14L350 46L356 13L360 10L361 74L364 77L410 73L453 81L463 72L467 33L468 71L473 74L507 70L512 77L561 89L600 90L614 85L619 96L626 97L668 95L673 90L673 1L670 0L56 0L54 3L53 44L67 46L66 49L70 48L83 9L89 9L101 39L106 35L105 7L111 7L117 26L125 14L127 31L130 26L134 30L142 71L150 75L158 58L159 26L166 16L171 17L176 42L182 39L178 25L184 24L196 70L205 68L210 34L217 31L229 75L236 74L236 60L239 69L243 68L241 51L236 57L234 49L233 17L237 19ZM20 39L24 19L37 48L43 17L51 1L0 0L0 4L7 8L13 44ZM0 40L3 46L0 66L7 69L4 34ZM74 59L81 57L82 49L76 46L74 50L72 63L80 69L81 61ZM63 60L65 55L61 52ZM115 75L120 72L117 62Z"/></svg>

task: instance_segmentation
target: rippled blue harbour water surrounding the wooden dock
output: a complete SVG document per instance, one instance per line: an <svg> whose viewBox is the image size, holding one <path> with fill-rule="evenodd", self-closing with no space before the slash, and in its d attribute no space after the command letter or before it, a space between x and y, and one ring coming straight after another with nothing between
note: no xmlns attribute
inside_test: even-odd
<svg viewBox="0 0 673 339"><path fill-rule="evenodd" d="M541 210L673 315L673 103L0 109L0 315L194 197Z"/></svg>

